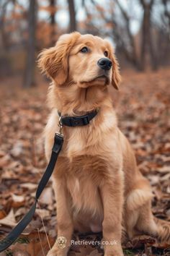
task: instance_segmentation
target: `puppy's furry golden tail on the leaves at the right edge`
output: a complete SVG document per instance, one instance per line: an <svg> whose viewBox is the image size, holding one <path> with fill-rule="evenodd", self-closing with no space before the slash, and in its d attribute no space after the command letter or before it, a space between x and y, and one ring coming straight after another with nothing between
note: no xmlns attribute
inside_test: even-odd
<svg viewBox="0 0 170 256"><path fill-rule="evenodd" d="M154 217L154 221L158 227L158 241L170 244L170 222L156 217Z"/></svg>

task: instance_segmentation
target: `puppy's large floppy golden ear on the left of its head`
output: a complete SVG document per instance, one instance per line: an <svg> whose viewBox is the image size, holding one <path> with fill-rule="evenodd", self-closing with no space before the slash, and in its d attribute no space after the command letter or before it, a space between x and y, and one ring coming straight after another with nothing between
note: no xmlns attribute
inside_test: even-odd
<svg viewBox="0 0 170 256"><path fill-rule="evenodd" d="M38 67L55 80L58 85L66 82L68 77L68 56L80 33L61 35L56 45L39 54Z"/></svg>

